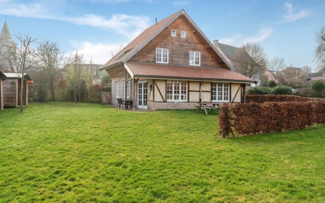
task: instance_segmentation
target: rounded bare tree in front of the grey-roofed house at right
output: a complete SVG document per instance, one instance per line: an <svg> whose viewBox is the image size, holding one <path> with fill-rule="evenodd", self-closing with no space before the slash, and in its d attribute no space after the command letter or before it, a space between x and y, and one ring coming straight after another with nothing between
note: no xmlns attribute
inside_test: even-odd
<svg viewBox="0 0 325 203"><path fill-rule="evenodd" d="M247 42L242 45L242 50L235 53L235 60L238 65L236 71L249 77L255 77L264 73L267 70L267 54L264 52L261 45L256 43Z"/></svg>

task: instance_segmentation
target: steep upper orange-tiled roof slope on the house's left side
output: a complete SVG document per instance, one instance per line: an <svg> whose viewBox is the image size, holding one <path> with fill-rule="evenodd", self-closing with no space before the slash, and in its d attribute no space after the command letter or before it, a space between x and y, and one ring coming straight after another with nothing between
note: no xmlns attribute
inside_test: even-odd
<svg viewBox="0 0 325 203"><path fill-rule="evenodd" d="M182 11L182 10L181 10ZM149 28L145 29L138 37L136 37L131 43L129 43L126 47L124 47L121 51L119 51L117 54L115 54L107 63L104 64L103 67L107 65L111 65L113 63L117 63L121 61L123 58L125 58L127 55L132 53L132 50L142 43L144 43L146 40L148 40L156 31L158 31L161 27L163 27L169 20L171 20L174 16L179 14L181 11L178 11L171 16L159 21L157 24L154 24L150 26ZM126 52L124 54L124 52ZM121 56L122 57L119 57ZM118 59L118 60L116 60Z"/></svg>

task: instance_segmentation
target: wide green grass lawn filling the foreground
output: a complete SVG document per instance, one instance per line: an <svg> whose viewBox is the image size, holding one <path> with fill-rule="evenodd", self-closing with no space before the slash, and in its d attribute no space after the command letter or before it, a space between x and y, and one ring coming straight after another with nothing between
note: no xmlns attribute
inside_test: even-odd
<svg viewBox="0 0 325 203"><path fill-rule="evenodd" d="M216 113L0 112L0 202L325 202L325 126L221 139Z"/></svg>

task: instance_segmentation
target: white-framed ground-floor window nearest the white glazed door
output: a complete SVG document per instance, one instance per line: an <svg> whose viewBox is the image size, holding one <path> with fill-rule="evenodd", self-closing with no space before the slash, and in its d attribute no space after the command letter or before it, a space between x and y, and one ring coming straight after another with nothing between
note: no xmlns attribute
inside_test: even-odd
<svg viewBox="0 0 325 203"><path fill-rule="evenodd" d="M187 101L187 81L167 81L167 101Z"/></svg>

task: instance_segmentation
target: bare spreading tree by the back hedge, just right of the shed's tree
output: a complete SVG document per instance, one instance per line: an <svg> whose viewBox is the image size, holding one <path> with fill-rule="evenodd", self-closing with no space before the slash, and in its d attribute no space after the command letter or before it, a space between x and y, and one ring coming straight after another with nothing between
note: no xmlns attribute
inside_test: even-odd
<svg viewBox="0 0 325 203"><path fill-rule="evenodd" d="M50 83L52 100L55 100L55 81L59 77L59 72L64 70L64 64L69 63L70 57L64 56L56 42L45 40L37 47L37 57L41 71L46 72Z"/></svg>

